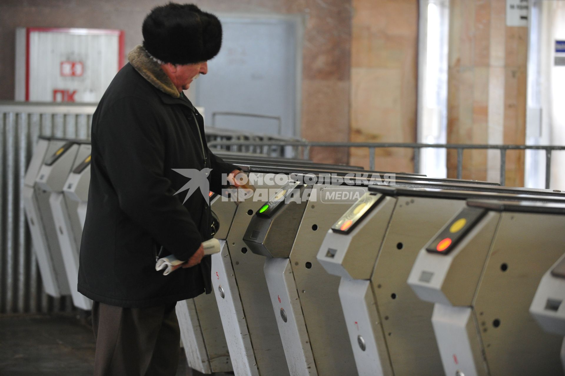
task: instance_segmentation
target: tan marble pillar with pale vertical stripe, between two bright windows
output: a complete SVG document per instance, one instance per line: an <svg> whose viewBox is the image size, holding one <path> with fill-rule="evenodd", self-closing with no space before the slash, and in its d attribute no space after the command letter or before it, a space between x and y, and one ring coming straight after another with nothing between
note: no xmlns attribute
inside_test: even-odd
<svg viewBox="0 0 565 376"><path fill-rule="evenodd" d="M524 144L526 27L506 26L506 0L451 0L447 142ZM463 178L499 180L499 152L468 151ZM447 155L448 176L457 153ZM523 185L524 153L506 155L506 185Z"/></svg>

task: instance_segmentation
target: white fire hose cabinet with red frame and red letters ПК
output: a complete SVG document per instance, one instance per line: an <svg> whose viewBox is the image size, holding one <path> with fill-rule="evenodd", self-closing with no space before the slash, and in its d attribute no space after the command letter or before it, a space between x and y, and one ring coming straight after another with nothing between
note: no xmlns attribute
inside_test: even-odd
<svg viewBox="0 0 565 376"><path fill-rule="evenodd" d="M15 100L96 103L124 65L124 32L16 28Z"/></svg>

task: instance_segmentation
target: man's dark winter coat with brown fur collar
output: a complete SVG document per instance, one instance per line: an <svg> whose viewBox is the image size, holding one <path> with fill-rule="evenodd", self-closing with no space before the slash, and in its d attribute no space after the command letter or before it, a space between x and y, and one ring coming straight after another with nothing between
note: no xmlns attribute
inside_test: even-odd
<svg viewBox="0 0 565 376"><path fill-rule="evenodd" d="M146 51L138 46L128 58L93 116L78 289L106 304L145 307L195 297L211 284L210 256L167 276L155 271L161 246L162 257L184 261L206 240L206 201L198 189L183 205L188 191L175 192L189 179L172 168L212 168L210 189L220 193L221 174L236 166L208 150L202 116Z"/></svg>

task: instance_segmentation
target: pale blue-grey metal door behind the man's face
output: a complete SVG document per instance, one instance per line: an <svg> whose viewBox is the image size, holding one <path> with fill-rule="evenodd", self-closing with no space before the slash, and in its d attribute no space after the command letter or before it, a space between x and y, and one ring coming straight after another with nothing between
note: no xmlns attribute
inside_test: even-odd
<svg viewBox="0 0 565 376"><path fill-rule="evenodd" d="M299 135L301 19L221 17L223 44L194 82L207 126Z"/></svg>

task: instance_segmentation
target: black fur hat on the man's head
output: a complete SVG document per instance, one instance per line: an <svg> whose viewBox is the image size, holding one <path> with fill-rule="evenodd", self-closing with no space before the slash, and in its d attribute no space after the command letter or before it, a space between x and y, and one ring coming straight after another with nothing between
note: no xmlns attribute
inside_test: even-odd
<svg viewBox="0 0 565 376"><path fill-rule="evenodd" d="M171 2L153 8L141 31L145 50L164 63L204 62L221 47L220 20L194 4Z"/></svg>

